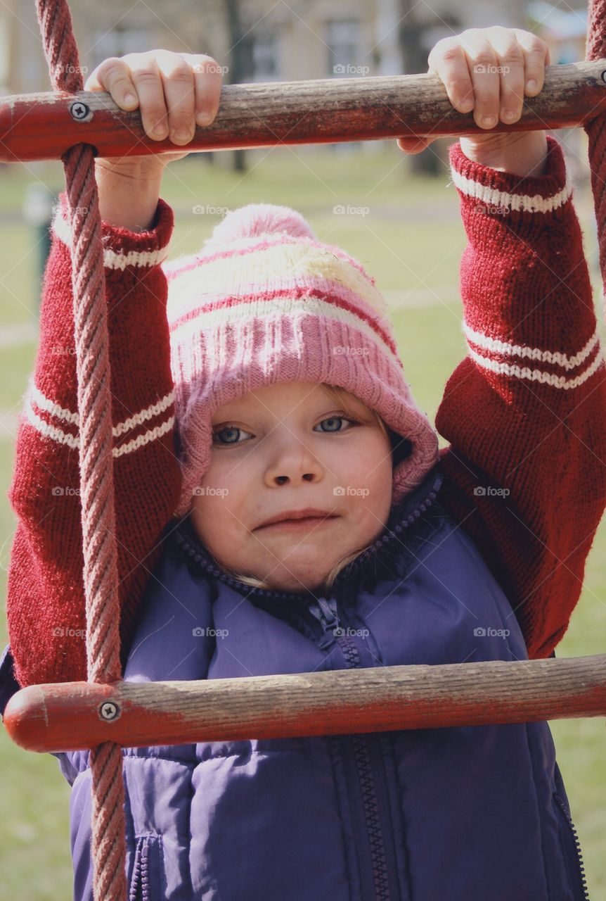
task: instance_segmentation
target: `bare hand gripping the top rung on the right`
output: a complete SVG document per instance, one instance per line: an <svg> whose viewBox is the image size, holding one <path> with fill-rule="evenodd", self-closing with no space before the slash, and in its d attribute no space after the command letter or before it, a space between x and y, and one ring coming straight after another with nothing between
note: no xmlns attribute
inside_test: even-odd
<svg viewBox="0 0 606 901"><path fill-rule="evenodd" d="M499 119L507 124L520 119L524 96L541 91L545 66L551 59L547 44L536 34L494 25L443 38L431 50L428 63L428 72L442 80L455 109L460 113L473 110L475 123L490 130ZM488 158L492 151L502 153L531 134L536 148L541 134L544 140L544 132L464 132L461 147L471 159L480 150ZM402 137L398 147L406 153L419 153L436 140L431 136Z"/></svg>

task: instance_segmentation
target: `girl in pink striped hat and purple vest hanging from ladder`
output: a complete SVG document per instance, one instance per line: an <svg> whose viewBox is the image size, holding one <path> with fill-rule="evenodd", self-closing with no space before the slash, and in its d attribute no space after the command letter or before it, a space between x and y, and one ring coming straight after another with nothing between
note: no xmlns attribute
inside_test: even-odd
<svg viewBox="0 0 606 901"><path fill-rule="evenodd" d="M548 53L495 27L439 41L429 61L487 130L520 117ZM213 59L165 50L105 60L87 82L182 147L220 85ZM167 264L168 158L97 159L125 679L553 656L606 495L582 235L545 132L485 131L449 152L468 354L439 407L440 453L357 260L261 204ZM5 697L86 678L66 215L62 196L10 493ZM88 752L57 757L74 896L90 899ZM587 897L547 723L123 757L133 899Z"/></svg>

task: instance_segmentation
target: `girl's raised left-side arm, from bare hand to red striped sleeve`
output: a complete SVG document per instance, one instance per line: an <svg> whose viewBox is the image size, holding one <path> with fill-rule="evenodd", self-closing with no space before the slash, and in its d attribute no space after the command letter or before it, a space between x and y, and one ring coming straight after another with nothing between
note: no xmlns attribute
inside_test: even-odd
<svg viewBox="0 0 606 901"><path fill-rule="evenodd" d="M149 138L162 141L169 134L183 147L195 123L213 122L221 82L222 68L205 54L149 50L104 60L87 78L86 90L109 91L122 109L139 108ZM122 667L143 587L180 494L161 269L174 220L158 194L167 163L186 155L178 150L161 158L95 160L112 367ZM53 232L40 348L10 491L18 523L8 629L22 686L86 678L70 236L61 214Z"/></svg>

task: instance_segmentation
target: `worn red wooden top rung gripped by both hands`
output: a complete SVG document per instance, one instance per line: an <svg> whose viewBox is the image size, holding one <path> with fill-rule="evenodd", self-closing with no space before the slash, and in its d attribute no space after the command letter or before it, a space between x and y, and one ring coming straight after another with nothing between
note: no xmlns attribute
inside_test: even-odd
<svg viewBox="0 0 606 901"><path fill-rule="evenodd" d="M493 132L582 125L606 109L606 60L547 66L545 85L526 98L520 121ZM186 149L228 150L278 144L335 143L410 134L482 132L460 114L435 75L321 78L222 86L213 124L197 127ZM484 132L485 133L485 132ZM0 98L0 161L60 159L77 143L98 156L144 156L183 146L151 141L140 113L123 112L101 91Z"/></svg>

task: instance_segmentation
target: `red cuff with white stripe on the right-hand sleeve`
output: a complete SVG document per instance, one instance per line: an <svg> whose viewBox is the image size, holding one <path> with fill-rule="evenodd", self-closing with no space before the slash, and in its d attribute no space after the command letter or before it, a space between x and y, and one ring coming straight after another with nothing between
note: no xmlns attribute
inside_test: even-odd
<svg viewBox="0 0 606 901"><path fill-rule="evenodd" d="M557 214L572 196L561 145L547 134L546 171L522 177L499 172L466 157L460 143L448 148L450 172L461 198L477 205L476 212L492 216L509 214Z"/></svg>

